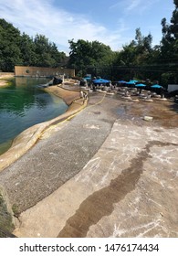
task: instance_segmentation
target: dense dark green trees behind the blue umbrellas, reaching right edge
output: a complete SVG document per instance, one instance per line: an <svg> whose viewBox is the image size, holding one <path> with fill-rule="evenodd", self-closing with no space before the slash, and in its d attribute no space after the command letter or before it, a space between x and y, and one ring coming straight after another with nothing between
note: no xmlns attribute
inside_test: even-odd
<svg viewBox="0 0 178 256"><path fill-rule="evenodd" d="M171 72L174 79L178 77L176 61L178 59L178 1L173 0L175 10L168 25L162 19L162 41L160 45L152 47L152 35L143 36L137 28L135 38L120 51L113 52L110 47L98 41L89 42L79 39L77 42L69 40L69 67L77 70L79 75L86 73L100 75L110 79L118 77L126 79L137 76L145 80L168 81L162 73ZM178 80L178 78L177 78Z"/></svg>

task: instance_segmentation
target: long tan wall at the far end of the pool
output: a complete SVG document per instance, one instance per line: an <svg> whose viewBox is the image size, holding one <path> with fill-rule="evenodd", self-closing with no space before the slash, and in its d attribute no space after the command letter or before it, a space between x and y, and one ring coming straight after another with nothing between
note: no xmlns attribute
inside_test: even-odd
<svg viewBox="0 0 178 256"><path fill-rule="evenodd" d="M30 76L30 77L48 77L64 75L67 78L75 77L75 69L63 69L63 68L43 68L43 67L27 67L27 66L15 66L15 75Z"/></svg>

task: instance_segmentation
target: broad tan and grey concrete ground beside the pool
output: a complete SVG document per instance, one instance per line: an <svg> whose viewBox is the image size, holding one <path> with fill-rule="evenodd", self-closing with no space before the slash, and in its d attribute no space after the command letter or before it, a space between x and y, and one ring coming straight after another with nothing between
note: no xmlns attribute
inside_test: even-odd
<svg viewBox="0 0 178 256"><path fill-rule="evenodd" d="M92 92L86 109L0 173L14 234L178 237L177 113L172 101Z"/></svg>

